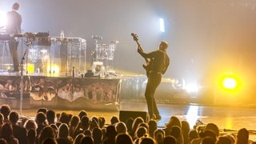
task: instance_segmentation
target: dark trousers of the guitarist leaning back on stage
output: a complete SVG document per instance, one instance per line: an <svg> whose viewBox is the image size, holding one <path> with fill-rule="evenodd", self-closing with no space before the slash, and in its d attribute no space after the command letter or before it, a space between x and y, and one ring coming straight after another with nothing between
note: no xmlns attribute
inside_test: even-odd
<svg viewBox="0 0 256 144"><path fill-rule="evenodd" d="M158 106L154 100L154 92L158 88L161 80L162 74L152 72L149 74L146 83L145 98L150 118L153 118L153 115L159 115Z"/></svg>

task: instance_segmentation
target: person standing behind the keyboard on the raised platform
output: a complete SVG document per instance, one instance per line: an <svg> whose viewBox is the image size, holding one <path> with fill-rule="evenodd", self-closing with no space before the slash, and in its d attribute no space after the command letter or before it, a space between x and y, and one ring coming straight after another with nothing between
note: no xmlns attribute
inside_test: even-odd
<svg viewBox="0 0 256 144"><path fill-rule="evenodd" d="M22 33L22 15L18 13L19 4L15 2L13 4L12 10L8 11L6 14L7 17L7 25L6 25L6 33L13 34L21 34ZM15 39L10 39L9 41L10 54L13 58L14 63L14 71L18 71L18 42Z"/></svg>

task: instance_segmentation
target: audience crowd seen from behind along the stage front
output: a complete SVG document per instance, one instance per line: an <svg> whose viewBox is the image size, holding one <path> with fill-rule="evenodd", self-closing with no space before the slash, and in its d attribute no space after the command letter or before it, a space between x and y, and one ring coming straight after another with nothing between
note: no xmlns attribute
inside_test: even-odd
<svg viewBox="0 0 256 144"><path fill-rule="evenodd" d="M89 118L86 110L78 115L55 114L40 108L34 119L19 118L10 106L0 107L0 144L255 144L246 128L233 134L222 134L214 123L190 125L170 116L164 128L154 120L141 117L121 122L118 116Z"/></svg>

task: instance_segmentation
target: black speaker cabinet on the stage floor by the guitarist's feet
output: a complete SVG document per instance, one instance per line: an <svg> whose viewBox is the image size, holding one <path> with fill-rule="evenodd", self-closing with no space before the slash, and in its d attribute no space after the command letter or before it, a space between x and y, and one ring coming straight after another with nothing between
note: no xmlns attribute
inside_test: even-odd
<svg viewBox="0 0 256 144"><path fill-rule="evenodd" d="M129 111L129 110L119 111L119 120L121 122L126 122L128 118L138 118L138 117L142 117L144 122L149 121L149 114L146 111Z"/></svg>

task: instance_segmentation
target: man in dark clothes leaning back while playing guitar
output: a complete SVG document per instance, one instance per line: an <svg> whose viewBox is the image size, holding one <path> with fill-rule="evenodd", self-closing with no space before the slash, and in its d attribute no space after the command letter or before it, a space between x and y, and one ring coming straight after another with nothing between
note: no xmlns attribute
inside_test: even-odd
<svg viewBox="0 0 256 144"><path fill-rule="evenodd" d="M170 58L166 53L168 48L167 42L160 42L158 50L154 50L148 54L144 53L142 47L138 45L138 53L142 55L143 58L150 58L148 63L148 80L146 84L145 98L147 102L148 112L150 114L150 119L160 120L161 116L158 111L158 107L154 100L154 92L158 88L160 82L162 81L162 74L166 73L166 70L170 64Z"/></svg>

